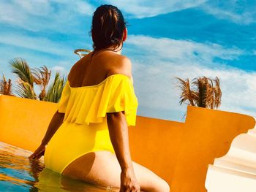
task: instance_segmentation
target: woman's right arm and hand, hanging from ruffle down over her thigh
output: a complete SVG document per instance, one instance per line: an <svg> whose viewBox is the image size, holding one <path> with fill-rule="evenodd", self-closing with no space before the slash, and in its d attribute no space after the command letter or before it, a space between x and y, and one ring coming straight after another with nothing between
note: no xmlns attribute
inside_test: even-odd
<svg viewBox="0 0 256 192"><path fill-rule="evenodd" d="M121 191L140 191L129 152L128 126L124 112L107 113L110 139L121 166Z"/></svg>

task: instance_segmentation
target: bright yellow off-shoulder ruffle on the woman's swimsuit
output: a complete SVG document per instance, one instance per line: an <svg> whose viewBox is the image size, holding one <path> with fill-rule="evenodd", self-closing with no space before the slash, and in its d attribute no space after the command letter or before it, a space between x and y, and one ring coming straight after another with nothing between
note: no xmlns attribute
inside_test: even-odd
<svg viewBox="0 0 256 192"><path fill-rule="evenodd" d="M72 88L67 81L58 103L64 121L78 124L101 123L107 112L125 112L128 126L135 126L138 99L132 81L113 74L98 85Z"/></svg>

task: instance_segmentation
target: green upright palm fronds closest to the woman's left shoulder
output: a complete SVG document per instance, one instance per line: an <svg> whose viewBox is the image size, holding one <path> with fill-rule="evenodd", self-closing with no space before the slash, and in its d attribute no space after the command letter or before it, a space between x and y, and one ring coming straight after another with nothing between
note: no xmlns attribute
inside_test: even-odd
<svg viewBox="0 0 256 192"><path fill-rule="evenodd" d="M61 78L59 72L56 72L54 81L48 88L44 101L58 103L66 81L65 77Z"/></svg>

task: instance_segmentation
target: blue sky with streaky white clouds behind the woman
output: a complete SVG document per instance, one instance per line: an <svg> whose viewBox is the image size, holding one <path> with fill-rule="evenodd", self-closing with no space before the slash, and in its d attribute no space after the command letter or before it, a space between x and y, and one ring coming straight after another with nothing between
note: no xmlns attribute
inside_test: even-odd
<svg viewBox="0 0 256 192"><path fill-rule="evenodd" d="M91 16L100 4L124 14L138 115L183 121L175 77L219 77L219 110L256 116L256 1L0 1L0 74L21 57L67 74L91 49Z"/></svg>

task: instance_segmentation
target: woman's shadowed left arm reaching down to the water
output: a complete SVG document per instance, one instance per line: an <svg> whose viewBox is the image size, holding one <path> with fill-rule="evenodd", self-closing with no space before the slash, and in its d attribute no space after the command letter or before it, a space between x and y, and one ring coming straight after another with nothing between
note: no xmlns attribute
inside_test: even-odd
<svg viewBox="0 0 256 192"><path fill-rule="evenodd" d="M64 120L65 113L56 111L53 118L50 120L50 124L45 133L45 137L42 139L41 145L37 147L37 150L29 156L31 159L39 159L45 153L45 146L48 144L53 134L58 130Z"/></svg>

